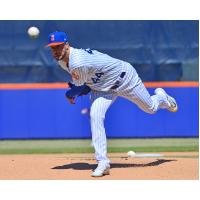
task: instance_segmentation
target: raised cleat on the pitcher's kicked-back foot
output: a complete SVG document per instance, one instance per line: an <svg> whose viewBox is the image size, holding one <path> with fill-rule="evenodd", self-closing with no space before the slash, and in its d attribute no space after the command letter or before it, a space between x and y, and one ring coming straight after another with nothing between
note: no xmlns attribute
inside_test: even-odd
<svg viewBox="0 0 200 200"><path fill-rule="evenodd" d="M155 90L155 94L160 94L160 95L162 95L162 96L165 96L166 99L167 99L167 101L168 101L168 103L169 103L169 108L168 108L168 110L169 110L170 112L177 112L177 110L178 110L178 105L177 105L177 103L176 103L176 100L175 100L173 97L169 96L169 95L165 92L165 90L163 90L162 88L157 88L157 89Z"/></svg>

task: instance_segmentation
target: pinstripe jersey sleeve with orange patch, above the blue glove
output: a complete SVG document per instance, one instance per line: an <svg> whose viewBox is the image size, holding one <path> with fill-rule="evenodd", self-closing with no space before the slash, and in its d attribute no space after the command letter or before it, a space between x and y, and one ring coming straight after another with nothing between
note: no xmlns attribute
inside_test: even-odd
<svg viewBox="0 0 200 200"><path fill-rule="evenodd" d="M71 71L73 84L76 86L84 85L87 82L88 70L85 67L78 67Z"/></svg>

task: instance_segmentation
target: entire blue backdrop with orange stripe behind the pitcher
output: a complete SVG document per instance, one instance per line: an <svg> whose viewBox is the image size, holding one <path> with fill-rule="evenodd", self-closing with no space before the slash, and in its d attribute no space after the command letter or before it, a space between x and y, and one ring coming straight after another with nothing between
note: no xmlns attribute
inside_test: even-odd
<svg viewBox="0 0 200 200"><path fill-rule="evenodd" d="M40 29L38 39L28 37L29 26ZM108 138L198 137L198 21L26 20L0 21L0 139L91 138L89 116L81 114L88 96L68 104L70 77L45 48L55 30L74 47L130 62L151 94L164 86L177 99L179 112L149 115L119 98L107 113Z"/></svg>

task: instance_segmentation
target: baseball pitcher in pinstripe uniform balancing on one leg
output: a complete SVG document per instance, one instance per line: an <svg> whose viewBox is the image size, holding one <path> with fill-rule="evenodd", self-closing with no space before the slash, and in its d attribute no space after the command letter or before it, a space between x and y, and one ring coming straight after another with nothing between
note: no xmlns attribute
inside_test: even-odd
<svg viewBox="0 0 200 200"><path fill-rule="evenodd" d="M118 96L130 100L150 114L159 109L168 109L170 112L178 109L175 99L162 88L157 88L155 95L150 96L136 70L128 62L96 50L73 48L64 32L50 33L48 46L59 65L72 76L71 90L66 93L70 103L91 90L90 123L98 162L92 173L94 177L109 174L110 161L107 157L104 118Z"/></svg>

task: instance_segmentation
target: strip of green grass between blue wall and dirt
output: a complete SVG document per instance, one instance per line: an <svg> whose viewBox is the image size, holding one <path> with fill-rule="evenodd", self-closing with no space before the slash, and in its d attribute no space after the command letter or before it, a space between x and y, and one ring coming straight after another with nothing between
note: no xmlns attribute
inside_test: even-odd
<svg viewBox="0 0 200 200"><path fill-rule="evenodd" d="M199 151L198 138L109 139L108 152ZM0 140L0 154L92 153L91 140Z"/></svg>

